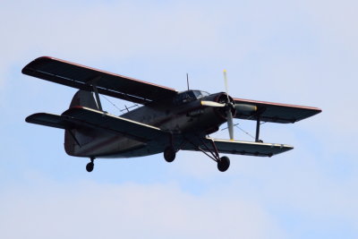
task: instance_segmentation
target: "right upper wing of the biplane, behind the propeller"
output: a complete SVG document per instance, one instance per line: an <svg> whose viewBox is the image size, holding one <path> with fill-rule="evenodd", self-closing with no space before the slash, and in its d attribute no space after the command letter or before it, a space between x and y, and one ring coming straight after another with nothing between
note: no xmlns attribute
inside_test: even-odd
<svg viewBox="0 0 358 239"><path fill-rule="evenodd" d="M234 98L234 102L257 107L257 111L254 113L237 111L235 118L257 120L260 117L260 121L263 122L295 123L322 112L320 108L316 107L301 107L243 98Z"/></svg>

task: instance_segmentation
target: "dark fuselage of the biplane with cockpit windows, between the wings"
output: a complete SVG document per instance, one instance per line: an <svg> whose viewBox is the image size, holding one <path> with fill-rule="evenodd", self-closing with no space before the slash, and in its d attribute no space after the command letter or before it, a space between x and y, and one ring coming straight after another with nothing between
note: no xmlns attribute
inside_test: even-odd
<svg viewBox="0 0 358 239"><path fill-rule="evenodd" d="M195 97L185 97L185 93L179 93L175 98L162 101L160 104L151 103L138 107L132 111L120 115L142 124L149 124L169 132L168 139L155 142L141 142L112 133L87 130L81 132L87 134L89 140L74 149L66 152L78 157L96 158L131 158L147 156L163 152L170 144L180 147L183 138L200 138L216 132L218 126L226 122L225 115L215 107L204 107L201 100L219 100L223 93Z"/></svg>

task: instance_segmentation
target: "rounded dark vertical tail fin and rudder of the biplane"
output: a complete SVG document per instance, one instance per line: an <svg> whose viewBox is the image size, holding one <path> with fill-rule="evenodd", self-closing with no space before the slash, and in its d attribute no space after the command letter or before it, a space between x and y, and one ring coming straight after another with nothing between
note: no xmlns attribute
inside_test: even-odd
<svg viewBox="0 0 358 239"><path fill-rule="evenodd" d="M70 107L90 107L98 110L93 93L79 90L74 94ZM77 149L93 140L96 132L90 128L74 128L64 132L64 150L68 155L76 156Z"/></svg>

